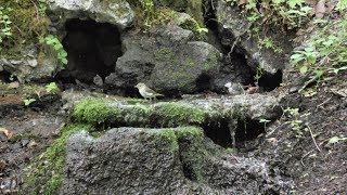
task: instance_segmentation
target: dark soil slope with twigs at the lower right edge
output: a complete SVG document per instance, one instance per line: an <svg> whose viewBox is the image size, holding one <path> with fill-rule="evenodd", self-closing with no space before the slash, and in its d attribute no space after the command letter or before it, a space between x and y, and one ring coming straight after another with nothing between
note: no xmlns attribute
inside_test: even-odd
<svg viewBox="0 0 347 195"><path fill-rule="evenodd" d="M345 73L322 83L313 96L287 95L282 106L299 108L299 116L283 115L267 129L261 146L248 154L266 158L274 172L293 178L295 194L347 193L346 80ZM294 120L303 121L299 131L291 127ZM334 136L340 140L330 143Z"/></svg>

